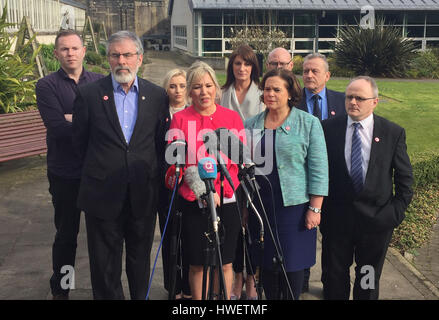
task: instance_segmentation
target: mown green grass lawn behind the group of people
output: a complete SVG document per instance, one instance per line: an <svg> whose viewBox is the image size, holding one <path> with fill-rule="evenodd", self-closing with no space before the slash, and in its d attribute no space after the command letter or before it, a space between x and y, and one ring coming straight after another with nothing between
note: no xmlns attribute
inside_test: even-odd
<svg viewBox="0 0 439 320"><path fill-rule="evenodd" d="M217 72L219 83L226 81L224 72ZM302 79L299 76L302 83ZM344 91L348 79L331 79L327 87ZM376 114L406 129L410 158L419 152L439 150L439 81L377 80L380 102Z"/></svg>

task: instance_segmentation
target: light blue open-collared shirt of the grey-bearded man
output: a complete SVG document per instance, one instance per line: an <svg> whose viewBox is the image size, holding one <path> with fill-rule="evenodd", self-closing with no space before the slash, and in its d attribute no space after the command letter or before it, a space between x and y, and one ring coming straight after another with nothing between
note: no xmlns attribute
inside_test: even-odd
<svg viewBox="0 0 439 320"><path fill-rule="evenodd" d="M123 90L120 83L114 80L113 75L111 75L111 81L113 82L114 103L116 104L120 127L122 128L126 143L129 144L137 120L139 98L137 76L128 93Z"/></svg>

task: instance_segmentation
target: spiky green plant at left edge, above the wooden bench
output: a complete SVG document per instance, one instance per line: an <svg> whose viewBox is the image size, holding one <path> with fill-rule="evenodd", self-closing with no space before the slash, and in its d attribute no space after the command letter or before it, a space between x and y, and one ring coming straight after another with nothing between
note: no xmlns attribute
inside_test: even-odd
<svg viewBox="0 0 439 320"><path fill-rule="evenodd" d="M24 46L21 54L13 54L11 51L14 39L6 31L12 24L6 21L7 8L3 8L0 17L0 112L17 112L26 109L29 105L34 105L35 81L32 80L34 74L34 61L38 50L34 52L25 63L25 55L30 46L30 41ZM14 37L15 38L15 37Z"/></svg>

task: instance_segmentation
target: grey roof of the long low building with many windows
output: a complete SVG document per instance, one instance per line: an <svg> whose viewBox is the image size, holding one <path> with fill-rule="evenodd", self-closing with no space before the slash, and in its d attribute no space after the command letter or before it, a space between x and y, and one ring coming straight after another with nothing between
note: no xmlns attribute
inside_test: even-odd
<svg viewBox="0 0 439 320"><path fill-rule="evenodd" d="M193 9L436 10L439 0L190 0Z"/></svg>

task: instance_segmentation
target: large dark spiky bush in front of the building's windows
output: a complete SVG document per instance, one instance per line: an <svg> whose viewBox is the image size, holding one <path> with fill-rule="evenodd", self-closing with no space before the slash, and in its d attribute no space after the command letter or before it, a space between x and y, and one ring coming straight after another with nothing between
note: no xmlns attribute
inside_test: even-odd
<svg viewBox="0 0 439 320"><path fill-rule="evenodd" d="M337 65L356 75L403 77L414 55L414 44L401 30L377 21L374 29L345 26L339 30L334 53Z"/></svg>

